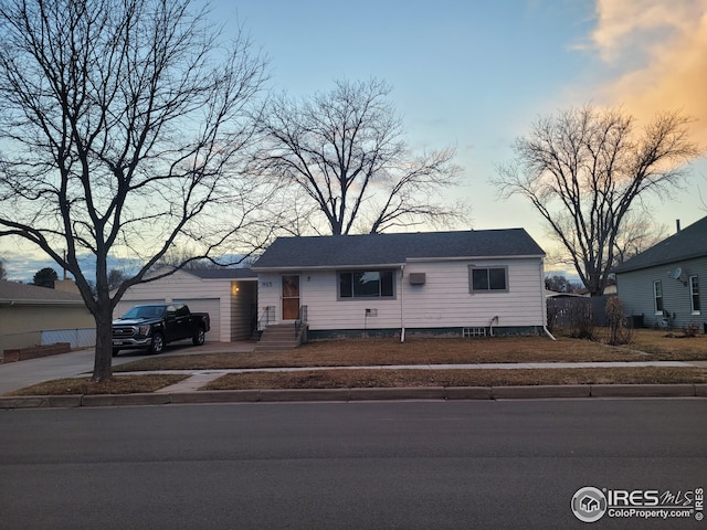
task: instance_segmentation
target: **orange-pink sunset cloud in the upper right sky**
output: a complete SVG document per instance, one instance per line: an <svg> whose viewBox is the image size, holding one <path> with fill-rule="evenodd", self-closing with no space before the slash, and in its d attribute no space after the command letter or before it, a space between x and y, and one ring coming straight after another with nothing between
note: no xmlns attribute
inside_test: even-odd
<svg viewBox="0 0 707 530"><path fill-rule="evenodd" d="M622 71L600 91L643 120L658 110L693 117L707 146L707 0L598 0L592 41Z"/></svg>

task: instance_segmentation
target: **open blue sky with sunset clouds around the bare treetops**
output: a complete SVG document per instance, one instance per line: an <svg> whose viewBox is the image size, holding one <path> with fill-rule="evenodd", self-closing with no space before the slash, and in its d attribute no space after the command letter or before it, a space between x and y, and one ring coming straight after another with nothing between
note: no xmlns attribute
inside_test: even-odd
<svg viewBox="0 0 707 530"><path fill-rule="evenodd" d="M291 96L335 80L393 88L413 149L454 146L473 227L523 226L551 244L531 206L498 201L495 166L539 115L592 102L623 105L639 125L659 108L694 116L707 146L707 0L214 0L225 33L241 24L271 57L268 88ZM701 195L701 197L700 197ZM674 231L707 214L707 162L651 201ZM0 242L13 279L46 262ZM51 264L50 264L51 265ZM61 275L61 272L60 272Z"/></svg>

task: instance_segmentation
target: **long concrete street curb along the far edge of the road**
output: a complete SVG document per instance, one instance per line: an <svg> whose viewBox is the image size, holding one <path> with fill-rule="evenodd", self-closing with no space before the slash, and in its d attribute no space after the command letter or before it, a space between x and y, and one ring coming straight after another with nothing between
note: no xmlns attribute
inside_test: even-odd
<svg viewBox="0 0 707 530"><path fill-rule="evenodd" d="M567 398L707 398L707 384L577 384L536 386L420 386L401 389L273 389L199 392L0 396L0 410L72 409L200 403L361 401L482 401Z"/></svg>

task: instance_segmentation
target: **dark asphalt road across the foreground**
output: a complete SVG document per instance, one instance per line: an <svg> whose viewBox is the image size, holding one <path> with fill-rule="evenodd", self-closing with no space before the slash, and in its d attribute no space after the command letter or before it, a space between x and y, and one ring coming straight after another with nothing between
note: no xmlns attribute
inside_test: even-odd
<svg viewBox="0 0 707 530"><path fill-rule="evenodd" d="M536 400L0 411L0 528L707 528L585 486L707 487L707 403Z"/></svg>

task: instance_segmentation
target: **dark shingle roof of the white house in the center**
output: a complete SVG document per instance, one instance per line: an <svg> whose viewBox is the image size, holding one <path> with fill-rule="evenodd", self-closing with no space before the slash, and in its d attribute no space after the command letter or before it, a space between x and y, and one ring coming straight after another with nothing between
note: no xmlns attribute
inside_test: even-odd
<svg viewBox="0 0 707 530"><path fill-rule="evenodd" d="M268 268L400 265L415 258L544 256L524 229L278 237L253 265Z"/></svg>

